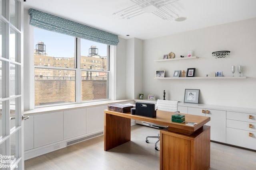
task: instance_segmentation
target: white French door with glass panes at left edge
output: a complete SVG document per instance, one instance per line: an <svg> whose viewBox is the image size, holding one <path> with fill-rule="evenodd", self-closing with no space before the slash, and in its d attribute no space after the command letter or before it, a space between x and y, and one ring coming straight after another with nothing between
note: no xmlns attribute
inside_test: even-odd
<svg viewBox="0 0 256 170"><path fill-rule="evenodd" d="M23 0L0 0L0 169L24 169Z"/></svg>

